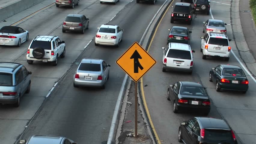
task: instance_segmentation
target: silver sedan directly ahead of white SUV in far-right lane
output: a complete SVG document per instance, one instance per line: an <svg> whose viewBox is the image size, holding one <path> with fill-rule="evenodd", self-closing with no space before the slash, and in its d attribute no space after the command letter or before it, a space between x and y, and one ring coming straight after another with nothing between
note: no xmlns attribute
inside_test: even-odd
<svg viewBox="0 0 256 144"><path fill-rule="evenodd" d="M227 33L226 23L223 20L218 19L208 19L206 22L203 22L203 33L205 32L218 32L218 33Z"/></svg>

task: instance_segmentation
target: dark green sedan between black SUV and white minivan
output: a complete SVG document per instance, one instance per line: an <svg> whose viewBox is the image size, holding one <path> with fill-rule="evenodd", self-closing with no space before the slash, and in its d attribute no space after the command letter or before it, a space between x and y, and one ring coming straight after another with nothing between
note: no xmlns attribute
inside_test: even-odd
<svg viewBox="0 0 256 144"><path fill-rule="evenodd" d="M187 27L182 26L173 26L172 29L168 29L170 31L167 44L168 43L182 43L182 44L190 44L190 33Z"/></svg>

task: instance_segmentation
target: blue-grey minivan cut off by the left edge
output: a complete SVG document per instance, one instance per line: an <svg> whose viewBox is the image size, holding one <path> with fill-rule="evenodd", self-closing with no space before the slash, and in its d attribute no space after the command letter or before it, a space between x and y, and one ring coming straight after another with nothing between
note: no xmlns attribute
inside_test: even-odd
<svg viewBox="0 0 256 144"><path fill-rule="evenodd" d="M0 62L0 103L20 106L20 98L29 93L32 72L22 64Z"/></svg>

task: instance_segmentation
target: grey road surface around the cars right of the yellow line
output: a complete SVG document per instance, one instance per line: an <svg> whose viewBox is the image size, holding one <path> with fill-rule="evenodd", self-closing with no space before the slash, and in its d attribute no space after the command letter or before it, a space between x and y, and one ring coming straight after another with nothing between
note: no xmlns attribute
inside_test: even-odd
<svg viewBox="0 0 256 144"><path fill-rule="evenodd" d="M230 1L218 2L225 4L211 2L214 19L223 19L226 23L230 24L230 5L228 5L231 4ZM227 120L242 143L254 143L256 134L256 128L253 124L256 110L254 103L256 100L254 97L255 82L248 76L248 73L246 73L249 80L249 90L246 94L235 91L216 92L215 84L209 82L208 76L211 68L218 64L240 65L239 62L233 55L231 55L230 61L228 62L219 58L202 59L202 53L200 52L200 37L203 36L202 22L211 19L211 15L194 14L191 26L180 22L171 24L171 10L172 8L170 7L163 17L149 49L149 53L157 60L157 64L143 77L142 83L146 102L158 137L160 140L163 140L162 143L178 144L178 127L180 123L193 116L202 116L197 113L174 114L172 112L172 103L166 99L169 84L173 84L177 81L193 81L200 82L207 88L212 102L212 109L209 116L222 117ZM172 26L186 26L192 30L190 46L196 51L193 53L195 65L192 75L181 72L162 72L163 50L161 47L166 46L166 40L169 34L168 29L171 29ZM228 37L233 39L230 25L227 25L227 31ZM233 52L237 54L234 41L230 43ZM240 65L240 67L242 66ZM239 143L241 143L240 140L238 140Z"/></svg>

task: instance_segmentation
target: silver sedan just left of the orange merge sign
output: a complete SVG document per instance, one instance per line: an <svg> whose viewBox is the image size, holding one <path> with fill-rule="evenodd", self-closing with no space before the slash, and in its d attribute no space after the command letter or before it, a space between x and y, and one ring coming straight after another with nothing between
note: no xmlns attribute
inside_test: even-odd
<svg viewBox="0 0 256 144"><path fill-rule="evenodd" d="M74 87L102 87L109 78L110 65L102 59L82 59L74 74Z"/></svg>

